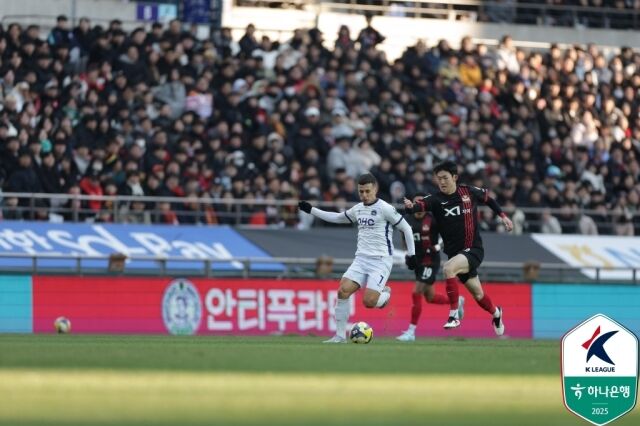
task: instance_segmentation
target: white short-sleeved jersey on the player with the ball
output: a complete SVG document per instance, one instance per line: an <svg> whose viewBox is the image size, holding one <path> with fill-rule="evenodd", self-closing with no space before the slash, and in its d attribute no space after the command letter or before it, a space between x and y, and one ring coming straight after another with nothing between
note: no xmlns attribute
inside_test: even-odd
<svg viewBox="0 0 640 426"><path fill-rule="evenodd" d="M356 256L393 256L393 227L402 215L392 205L378 199L370 205L358 203L344 214L358 225Z"/></svg>

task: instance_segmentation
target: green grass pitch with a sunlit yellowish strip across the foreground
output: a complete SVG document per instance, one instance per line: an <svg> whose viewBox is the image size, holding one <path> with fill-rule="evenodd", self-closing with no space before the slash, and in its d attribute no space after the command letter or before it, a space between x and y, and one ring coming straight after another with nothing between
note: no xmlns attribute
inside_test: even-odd
<svg viewBox="0 0 640 426"><path fill-rule="evenodd" d="M0 336L0 424L586 424L562 403L559 342L321 340Z"/></svg>

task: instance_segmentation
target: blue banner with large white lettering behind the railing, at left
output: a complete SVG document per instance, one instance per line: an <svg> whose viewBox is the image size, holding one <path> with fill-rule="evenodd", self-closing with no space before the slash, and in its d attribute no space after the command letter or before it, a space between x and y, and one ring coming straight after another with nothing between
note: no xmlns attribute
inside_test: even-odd
<svg viewBox="0 0 640 426"><path fill-rule="evenodd" d="M0 253L39 255L109 256L122 253L127 257L179 258L167 262L167 269L203 270L203 262L214 261L212 269L240 270L240 262L224 262L238 257L271 258L245 237L228 226L171 226L79 224L43 222L0 222ZM223 262L220 262L223 261ZM2 258L0 266L29 267L28 258ZM41 259L38 266L68 270L75 260ZM106 260L86 260L85 267L104 268ZM157 269L157 261L131 260L127 269ZM282 270L276 263L252 263L252 270Z"/></svg>

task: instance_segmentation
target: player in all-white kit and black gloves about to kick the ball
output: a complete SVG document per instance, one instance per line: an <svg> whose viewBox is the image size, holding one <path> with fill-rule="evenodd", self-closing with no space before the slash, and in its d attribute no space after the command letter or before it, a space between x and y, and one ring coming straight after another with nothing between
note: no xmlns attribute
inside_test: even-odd
<svg viewBox="0 0 640 426"><path fill-rule="evenodd" d="M389 203L380 200L378 182L371 173L358 178L358 194L361 203L343 213L334 213L311 207L300 201L300 210L326 222L358 225L358 249L356 257L340 280L336 302L336 334L325 343L346 343L349 297L364 288L362 302L367 308L384 308L389 303L391 288L386 285L393 266L393 228L404 233L407 242L407 266L415 269L416 253L411 227L402 215Z"/></svg>

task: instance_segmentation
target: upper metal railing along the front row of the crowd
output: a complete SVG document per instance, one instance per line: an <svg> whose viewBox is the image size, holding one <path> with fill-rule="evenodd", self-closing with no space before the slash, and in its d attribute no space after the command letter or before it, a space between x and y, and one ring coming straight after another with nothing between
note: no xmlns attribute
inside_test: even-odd
<svg viewBox="0 0 640 426"><path fill-rule="evenodd" d="M90 202L100 202L99 209L89 207ZM132 211L130 206L134 202L144 203L144 213L148 213L148 222L140 219L140 212ZM281 227L296 226L297 198L285 200L244 200L223 198L189 198L189 197L154 197L154 196L97 196L86 194L45 194L45 193L0 193L0 219L8 220L45 220L50 222L109 222L109 223L166 223L161 219L166 213L160 208L162 204L169 204L172 213L178 217L178 223L207 224L207 217L215 215L218 224L250 225L256 213L264 213L266 224L262 226ZM314 202L319 208L344 211L353 206L354 202ZM188 205L195 206L189 207ZM396 205L401 208L401 205ZM482 207L482 210L488 208ZM571 211L571 216L563 217L566 213L561 208L547 207L505 207L504 210L513 214L515 211L524 215L524 231L532 232L540 229L541 215L549 212L556 217L561 226L576 227L579 217L587 215L594 217L596 225L605 235L614 234L614 226L618 219L624 218L635 227L635 235L640 235L640 211L617 210L589 210L578 209ZM108 220L102 215L107 214ZM210 223L210 224L215 224ZM490 224L490 223L489 223Z"/></svg>

